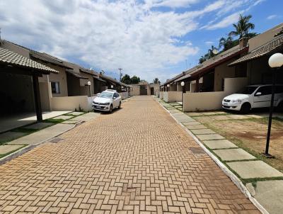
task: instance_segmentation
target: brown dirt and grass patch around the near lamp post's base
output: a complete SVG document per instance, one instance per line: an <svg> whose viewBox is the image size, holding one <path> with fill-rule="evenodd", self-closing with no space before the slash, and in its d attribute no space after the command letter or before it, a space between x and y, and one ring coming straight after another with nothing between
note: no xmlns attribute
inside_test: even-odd
<svg viewBox="0 0 283 214"><path fill-rule="evenodd" d="M223 135L231 142L248 150L251 154L264 160L272 167L283 171L283 122L272 121L270 137L270 154L275 159L265 159L260 153L265 151L267 135L267 118L253 120L213 120L204 123L207 127Z"/></svg>

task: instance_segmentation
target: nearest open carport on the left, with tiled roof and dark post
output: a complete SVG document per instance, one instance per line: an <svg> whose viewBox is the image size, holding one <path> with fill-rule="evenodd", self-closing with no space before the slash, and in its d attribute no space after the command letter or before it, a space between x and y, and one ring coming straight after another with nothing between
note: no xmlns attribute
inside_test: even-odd
<svg viewBox="0 0 283 214"><path fill-rule="evenodd" d="M42 120L39 77L43 74L57 74L57 70L0 47L1 75L1 124L16 115L32 114L35 120ZM10 120L10 124L15 119ZM5 125L5 124L4 124ZM12 125L8 125L8 127ZM3 128L3 130L6 128Z"/></svg>

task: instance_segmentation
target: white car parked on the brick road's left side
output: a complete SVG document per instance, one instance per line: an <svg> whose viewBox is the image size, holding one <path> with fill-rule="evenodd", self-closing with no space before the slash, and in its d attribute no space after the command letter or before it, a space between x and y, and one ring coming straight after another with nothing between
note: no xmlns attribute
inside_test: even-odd
<svg viewBox="0 0 283 214"><path fill-rule="evenodd" d="M121 108L122 98L115 90L105 90L93 99L93 111L112 112L114 108Z"/></svg>

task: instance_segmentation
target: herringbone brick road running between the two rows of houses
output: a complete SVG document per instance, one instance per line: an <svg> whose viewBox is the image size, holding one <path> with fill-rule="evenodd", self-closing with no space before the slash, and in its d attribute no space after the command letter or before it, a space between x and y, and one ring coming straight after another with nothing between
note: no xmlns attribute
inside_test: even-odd
<svg viewBox="0 0 283 214"><path fill-rule="evenodd" d="M0 213L258 213L150 96L0 166Z"/></svg>

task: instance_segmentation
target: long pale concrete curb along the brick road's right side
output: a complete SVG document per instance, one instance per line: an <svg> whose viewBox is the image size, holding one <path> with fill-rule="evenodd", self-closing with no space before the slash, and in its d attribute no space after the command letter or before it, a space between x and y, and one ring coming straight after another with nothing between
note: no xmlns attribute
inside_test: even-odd
<svg viewBox="0 0 283 214"><path fill-rule="evenodd" d="M158 102L158 101L157 101ZM159 102L158 102L159 103ZM267 210L265 210L265 208L263 208L263 206L255 199L253 198L253 196L250 194L250 192L248 191L248 188L246 188L246 186L242 183L242 181L240 179L238 179L238 177L233 174L233 172L226 167L216 156L214 156L214 154L212 154L212 152L210 152L209 150L207 150L207 147L205 147L202 142L200 142L200 140L190 131L188 130L185 125L183 125L182 123L180 123L178 120L176 120L173 115L171 114L170 111L168 111L161 103L159 103L159 105L165 109L165 111L167 111L169 113L169 115L195 140L195 142L197 142L198 145L200 145L200 147L202 147L202 149L204 150L204 152L206 152L209 157L211 157L213 159L213 161L220 167L220 169L222 169L222 171L224 171L224 173L229 176L229 178L231 179L231 181L233 181L233 183L241 190L241 192L253 203L253 205L255 205L256 208L258 208L258 210L260 210L261 213L263 214L269 214L267 212ZM181 111L182 112L182 111ZM182 112L183 113L183 112Z"/></svg>

